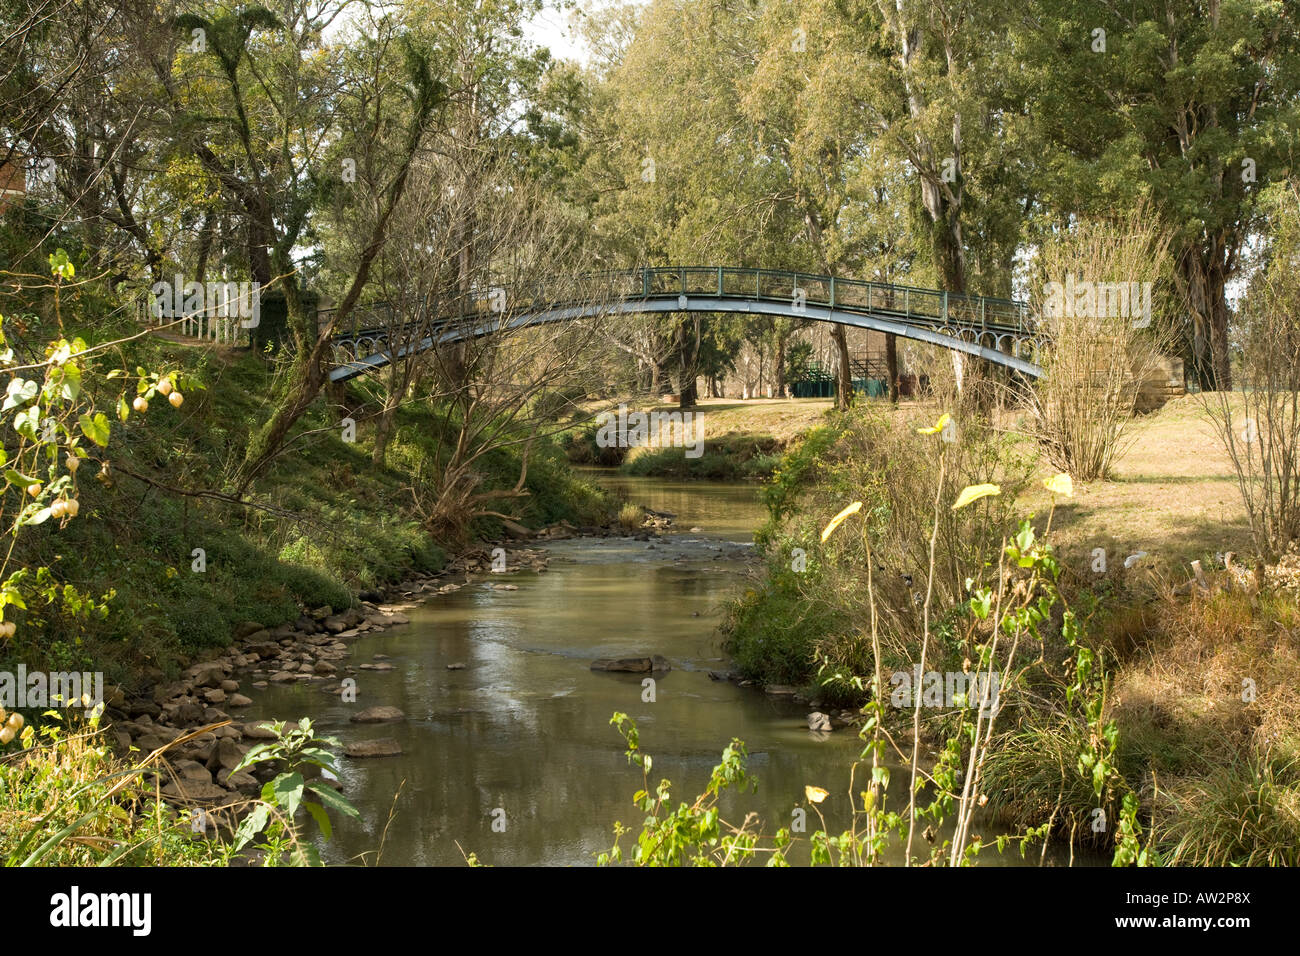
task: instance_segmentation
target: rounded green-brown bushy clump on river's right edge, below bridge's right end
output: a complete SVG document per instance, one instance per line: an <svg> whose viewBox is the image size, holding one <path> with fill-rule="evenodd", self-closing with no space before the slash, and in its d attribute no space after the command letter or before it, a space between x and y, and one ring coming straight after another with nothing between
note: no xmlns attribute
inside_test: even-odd
<svg viewBox="0 0 1300 956"><path fill-rule="evenodd" d="M931 623L952 631L949 618L961 613L971 570L979 574L994 562L1004 535L1015 527L1015 497L1032 467L980 418L957 421L945 416L936 433L941 455L918 441L918 429L932 427L932 414L871 408L846 412L792 449L764 493L768 522L755 536L767 555L764 572L724 627L744 675L771 682L779 674L777 683L794 684L820 678L829 698L862 700L854 679L866 676L872 661L863 637L871 618L862 588L868 564L890 670L915 659L927 587L936 610ZM984 481L997 483L1001 494L936 516L936 497ZM823 546L816 516L854 498L868 516L870 540ZM927 572L931 557L933 575ZM796 633L780 637L777 624ZM965 656L950 641L944 653L957 662Z"/></svg>

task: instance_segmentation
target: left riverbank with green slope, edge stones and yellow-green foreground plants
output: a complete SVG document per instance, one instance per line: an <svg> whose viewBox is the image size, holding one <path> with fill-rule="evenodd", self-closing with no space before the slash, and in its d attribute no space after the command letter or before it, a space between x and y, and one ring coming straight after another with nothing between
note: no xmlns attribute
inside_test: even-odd
<svg viewBox="0 0 1300 956"><path fill-rule="evenodd" d="M138 332L114 321L125 323L107 316L98 334L113 339ZM43 786L55 780L64 786L51 799L77 791L82 796L70 810L94 805L103 813L84 832L104 840L124 836L124 847L131 827L147 835L153 796L185 801L198 788L212 804L247 803L259 778L230 779L231 770L243 748L268 739L259 722L240 719L255 693L239 672L255 663L250 637L274 653L272 659L285 665L281 671L298 675L306 665L324 679L344 661L347 644L325 622L337 627L347 620L339 632L393 627L395 619L381 609L403 600L402 585L465 568L477 559L468 553L477 548L472 541L503 537L520 523L594 527L611 518L607 496L573 475L542 437L504 444L474 463L480 488L514 492L519 485L519 494L494 509L512 518L485 515L468 522L463 536L437 533L413 489L438 467L447 416L428 403L403 406L386 459L376 462L376 397L365 381L318 398L290 436L286 454L247 494L233 494L226 475L265 416L274 369L247 352L153 337L126 338L116 347L126 365L172 369L186 384L185 402L157 399L153 408L114 424L109 451L96 458L92 449L82 459L77 520L32 527L18 542L17 563L52 568L55 579L94 596L96 605L69 600L51 585L46 601L29 598L26 609L8 609L14 636L0 648L0 671L101 674L113 730L92 732L74 713L51 718L36 708L21 714L36 732L31 750L5 741L0 787L14 799L0 813L0 858L23 845L31 819L44 819L47 835L57 830L56 817L40 817ZM86 381L105 408L117 402L116 385ZM272 644L278 649L272 652ZM72 736L70 727L77 728ZM194 731L203 732L186 740ZM177 740L183 744L169 747ZM160 769L150 778L156 795L134 784L129 795L125 783L114 788L110 782L78 790L99 774L112 780L162 748L151 762ZM173 791L161 793L164 784ZM27 806L18 793L34 803ZM194 851L183 834L178 839L146 840L152 849L133 851L124 861L213 858ZM74 842L55 852L66 849L58 858L74 862L90 845Z"/></svg>

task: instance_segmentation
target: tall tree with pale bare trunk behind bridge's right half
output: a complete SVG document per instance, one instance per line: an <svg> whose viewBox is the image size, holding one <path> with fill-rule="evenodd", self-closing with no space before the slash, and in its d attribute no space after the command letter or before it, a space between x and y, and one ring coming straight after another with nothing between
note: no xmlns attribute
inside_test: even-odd
<svg viewBox="0 0 1300 956"><path fill-rule="evenodd" d="M1032 153L1009 8L1001 0L842 0L818 9L850 29L862 49L844 108L870 135L878 169L907 170L909 220L932 284L1008 295ZM961 382L961 352L952 359Z"/></svg>

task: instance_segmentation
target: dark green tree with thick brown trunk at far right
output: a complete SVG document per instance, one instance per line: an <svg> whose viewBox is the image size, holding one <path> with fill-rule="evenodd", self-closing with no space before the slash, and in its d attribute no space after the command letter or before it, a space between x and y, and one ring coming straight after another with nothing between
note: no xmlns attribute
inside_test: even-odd
<svg viewBox="0 0 1300 956"><path fill-rule="evenodd" d="M1231 388L1227 285L1295 170L1300 22L1275 0L1036 0L1014 21L1060 215L1150 199L1173 229L1190 377Z"/></svg>

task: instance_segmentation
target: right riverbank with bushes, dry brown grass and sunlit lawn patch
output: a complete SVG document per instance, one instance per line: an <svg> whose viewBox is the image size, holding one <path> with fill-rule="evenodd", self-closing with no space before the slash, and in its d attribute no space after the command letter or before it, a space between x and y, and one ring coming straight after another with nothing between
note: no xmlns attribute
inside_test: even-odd
<svg viewBox="0 0 1300 956"><path fill-rule="evenodd" d="M906 739L913 711L887 700L896 675L916 665L927 633L927 672L968 671L989 637L972 596L982 585L996 593L1004 542L1023 533L1022 518L1039 537L1050 519L1048 567L1062 602L1045 607L1039 639L1008 662L1018 680L1002 688L982 806L1013 832L1045 827L1049 839L1110 848L1121 803L1132 799L1150 861L1300 861L1297 576L1270 572L1258 589L1245 570L1223 567L1222 551L1244 551L1248 538L1197 399L1136 421L1114 479L1069 497L1046 489L1050 470L1014 420L963 421L959 438L940 445L916 434L937 414L859 408L786 454L766 489L766 566L724 626L740 672L802 685L828 705L863 704L875 626L889 682L884 722ZM984 483L1000 493L950 506ZM852 523L819 540L850 501L862 502ZM1061 663L1074 653L1067 619L1100 682L1089 719L1071 696L1078 671ZM927 702L922 739L945 740L957 710ZM1079 763L1093 750L1113 767L1100 793Z"/></svg>

